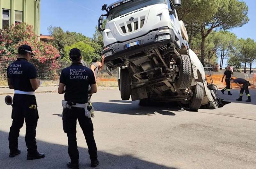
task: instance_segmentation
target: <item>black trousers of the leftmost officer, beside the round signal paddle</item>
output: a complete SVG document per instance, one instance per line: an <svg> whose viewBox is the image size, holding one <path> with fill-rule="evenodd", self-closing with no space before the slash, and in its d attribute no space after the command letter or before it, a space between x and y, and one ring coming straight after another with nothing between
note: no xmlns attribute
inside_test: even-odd
<svg viewBox="0 0 256 169"><path fill-rule="evenodd" d="M36 97L33 95L15 94L13 96L12 105L12 126L9 133L9 148L10 151L18 149L18 137L20 128L26 122L25 141L28 148L28 154L37 152L36 146L36 126L38 120L38 111Z"/></svg>

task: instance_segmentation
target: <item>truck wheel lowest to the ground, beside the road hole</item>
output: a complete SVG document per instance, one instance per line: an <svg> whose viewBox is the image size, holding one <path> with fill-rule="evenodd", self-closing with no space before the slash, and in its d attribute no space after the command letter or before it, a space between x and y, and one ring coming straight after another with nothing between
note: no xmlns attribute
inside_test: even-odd
<svg viewBox="0 0 256 169"><path fill-rule="evenodd" d="M196 90L194 96L189 103L189 108L191 111L197 111L202 104L204 98L204 84L202 82L196 82Z"/></svg>

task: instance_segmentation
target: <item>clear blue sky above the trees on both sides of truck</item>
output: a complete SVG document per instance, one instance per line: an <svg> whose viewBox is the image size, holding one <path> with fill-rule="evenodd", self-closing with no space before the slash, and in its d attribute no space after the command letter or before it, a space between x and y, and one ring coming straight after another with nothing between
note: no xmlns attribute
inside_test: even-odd
<svg viewBox="0 0 256 169"><path fill-rule="evenodd" d="M111 4L116 0L42 0L41 1L41 34L48 35L50 25L61 27L64 31L80 32L92 37L95 26L102 13L103 4ZM243 27L230 31L238 38L256 40L256 0L244 0L249 6L250 21Z"/></svg>

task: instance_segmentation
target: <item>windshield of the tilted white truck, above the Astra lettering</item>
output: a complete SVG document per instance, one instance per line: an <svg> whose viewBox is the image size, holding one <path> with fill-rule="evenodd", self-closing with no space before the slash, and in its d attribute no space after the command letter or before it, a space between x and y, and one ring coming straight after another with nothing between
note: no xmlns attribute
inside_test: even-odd
<svg viewBox="0 0 256 169"><path fill-rule="evenodd" d="M132 0L110 9L108 21L126 13L154 4L166 4L166 0Z"/></svg>

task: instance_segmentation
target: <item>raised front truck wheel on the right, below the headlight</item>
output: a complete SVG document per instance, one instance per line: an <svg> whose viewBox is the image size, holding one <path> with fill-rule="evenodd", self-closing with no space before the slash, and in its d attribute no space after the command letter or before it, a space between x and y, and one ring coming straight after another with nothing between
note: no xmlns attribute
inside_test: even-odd
<svg viewBox="0 0 256 169"><path fill-rule="evenodd" d="M190 87L191 77L191 61L188 55L180 55L176 64L180 68L178 77L176 77L175 85L179 89Z"/></svg>

